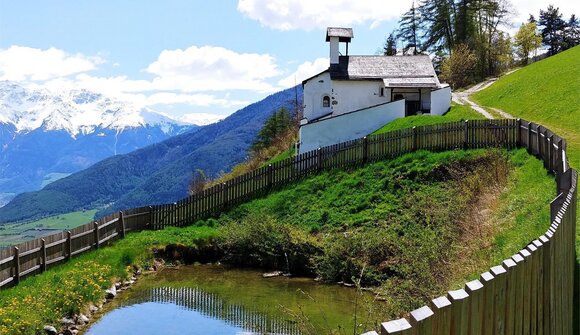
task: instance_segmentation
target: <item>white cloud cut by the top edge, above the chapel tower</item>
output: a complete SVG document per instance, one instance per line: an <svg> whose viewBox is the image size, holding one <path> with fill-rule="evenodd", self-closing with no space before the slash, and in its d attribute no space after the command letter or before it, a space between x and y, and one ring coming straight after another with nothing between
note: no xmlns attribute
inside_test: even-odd
<svg viewBox="0 0 580 335"><path fill-rule="evenodd" d="M277 30L326 28L398 20L411 1L386 0L239 0L238 11Z"/></svg>

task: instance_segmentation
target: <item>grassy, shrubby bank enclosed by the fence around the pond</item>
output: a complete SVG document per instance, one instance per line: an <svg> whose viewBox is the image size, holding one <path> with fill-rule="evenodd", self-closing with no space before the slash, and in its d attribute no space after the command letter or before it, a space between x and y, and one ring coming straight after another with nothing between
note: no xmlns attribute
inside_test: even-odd
<svg viewBox="0 0 580 335"><path fill-rule="evenodd" d="M78 313L102 299L112 278L130 275L127 265L150 264L153 249L165 255L189 250L195 261L217 247L232 264L289 267L332 282L360 278L384 293L386 308L368 318L384 321L478 275L543 232L554 196L544 191L554 189L544 171L521 149L420 151L326 171L219 218L129 234L30 277L0 295L0 334L41 332L59 313Z"/></svg>

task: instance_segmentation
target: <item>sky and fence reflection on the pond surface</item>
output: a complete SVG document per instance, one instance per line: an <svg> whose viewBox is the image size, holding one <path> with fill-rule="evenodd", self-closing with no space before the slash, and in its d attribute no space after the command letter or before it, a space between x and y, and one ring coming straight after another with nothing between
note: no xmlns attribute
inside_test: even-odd
<svg viewBox="0 0 580 335"><path fill-rule="evenodd" d="M301 334L291 320L228 303L199 288L146 292L105 315L87 334Z"/></svg>

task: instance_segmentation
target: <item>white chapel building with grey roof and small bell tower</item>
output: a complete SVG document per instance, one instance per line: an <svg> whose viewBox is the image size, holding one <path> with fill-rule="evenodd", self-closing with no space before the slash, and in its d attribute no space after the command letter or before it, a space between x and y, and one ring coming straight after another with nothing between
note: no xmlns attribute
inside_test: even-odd
<svg viewBox="0 0 580 335"><path fill-rule="evenodd" d="M328 28L330 66L302 82L299 153L364 137L397 118L442 115L451 105L451 88L428 55L349 56L352 38L352 28Z"/></svg>

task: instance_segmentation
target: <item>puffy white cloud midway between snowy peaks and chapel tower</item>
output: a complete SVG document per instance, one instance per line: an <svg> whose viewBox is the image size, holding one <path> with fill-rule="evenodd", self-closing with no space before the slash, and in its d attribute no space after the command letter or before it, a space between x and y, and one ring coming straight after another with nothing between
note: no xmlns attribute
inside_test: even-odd
<svg viewBox="0 0 580 335"><path fill-rule="evenodd" d="M270 92L265 80L280 71L268 54L237 53L222 47L191 46L185 50L164 50L147 67L156 75L153 86L163 90Z"/></svg>

